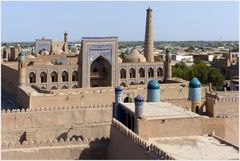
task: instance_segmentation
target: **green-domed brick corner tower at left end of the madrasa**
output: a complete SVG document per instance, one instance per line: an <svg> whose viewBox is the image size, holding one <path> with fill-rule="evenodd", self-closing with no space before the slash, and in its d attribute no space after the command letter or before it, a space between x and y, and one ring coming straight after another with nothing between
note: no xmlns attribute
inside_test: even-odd
<svg viewBox="0 0 240 161"><path fill-rule="evenodd" d="M25 53L21 50L18 54L19 86L26 85L25 57L26 57Z"/></svg>

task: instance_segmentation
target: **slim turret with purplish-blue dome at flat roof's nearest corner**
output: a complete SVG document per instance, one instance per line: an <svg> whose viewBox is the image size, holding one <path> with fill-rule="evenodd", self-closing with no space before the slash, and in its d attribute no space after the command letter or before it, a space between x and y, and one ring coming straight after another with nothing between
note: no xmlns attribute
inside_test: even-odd
<svg viewBox="0 0 240 161"><path fill-rule="evenodd" d="M143 106L144 106L144 98L140 95L135 97L135 121L134 121L134 132L139 134L139 121L143 116Z"/></svg>

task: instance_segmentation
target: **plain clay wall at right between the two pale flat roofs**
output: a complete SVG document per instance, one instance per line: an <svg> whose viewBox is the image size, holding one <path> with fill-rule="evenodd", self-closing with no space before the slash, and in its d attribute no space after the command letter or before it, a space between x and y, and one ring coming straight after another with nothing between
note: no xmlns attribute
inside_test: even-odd
<svg viewBox="0 0 240 161"><path fill-rule="evenodd" d="M194 136L215 133L238 145L238 117L172 118L139 120L139 136L144 139L174 136Z"/></svg>

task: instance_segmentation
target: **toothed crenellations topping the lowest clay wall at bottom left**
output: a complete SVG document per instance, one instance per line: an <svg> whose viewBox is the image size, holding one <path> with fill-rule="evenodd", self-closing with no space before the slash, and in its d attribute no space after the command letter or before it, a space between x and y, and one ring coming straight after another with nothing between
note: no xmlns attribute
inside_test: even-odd
<svg viewBox="0 0 240 161"><path fill-rule="evenodd" d="M69 139L67 138L64 140L61 138L60 140L54 139L54 140L36 140L36 141L23 141L22 143L20 142L2 142L2 150L4 149L20 149L20 148L37 148L37 147L50 147L50 146L67 146L67 145L88 145L91 143L96 143L96 144L103 144L107 143L109 141L108 137L102 137L101 139L99 138L72 138Z"/></svg>

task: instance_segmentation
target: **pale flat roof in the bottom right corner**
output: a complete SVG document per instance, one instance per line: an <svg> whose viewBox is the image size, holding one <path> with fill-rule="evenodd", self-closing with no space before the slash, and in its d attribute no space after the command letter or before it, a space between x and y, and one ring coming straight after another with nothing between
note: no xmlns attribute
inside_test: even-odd
<svg viewBox="0 0 240 161"><path fill-rule="evenodd" d="M239 159L237 149L212 136L163 137L149 141L177 160Z"/></svg>

